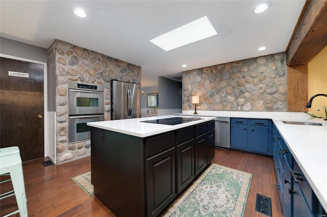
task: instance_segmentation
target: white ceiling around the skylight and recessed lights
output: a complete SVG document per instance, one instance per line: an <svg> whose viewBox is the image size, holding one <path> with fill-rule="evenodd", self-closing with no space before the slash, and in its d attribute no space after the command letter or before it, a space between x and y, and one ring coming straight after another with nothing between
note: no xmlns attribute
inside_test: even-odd
<svg viewBox="0 0 327 217"><path fill-rule="evenodd" d="M285 51L305 1L268 1L268 11L255 14L267 1L1 0L0 29L4 38L47 49L59 39L141 66L142 87L150 87L158 76ZM170 51L149 42L203 16L218 35Z"/></svg>

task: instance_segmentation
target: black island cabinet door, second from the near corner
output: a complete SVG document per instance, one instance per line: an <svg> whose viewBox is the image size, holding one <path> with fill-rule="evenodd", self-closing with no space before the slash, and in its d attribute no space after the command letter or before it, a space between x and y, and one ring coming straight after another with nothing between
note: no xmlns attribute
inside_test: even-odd
<svg viewBox="0 0 327 217"><path fill-rule="evenodd" d="M194 139L177 145L177 194L194 179Z"/></svg>

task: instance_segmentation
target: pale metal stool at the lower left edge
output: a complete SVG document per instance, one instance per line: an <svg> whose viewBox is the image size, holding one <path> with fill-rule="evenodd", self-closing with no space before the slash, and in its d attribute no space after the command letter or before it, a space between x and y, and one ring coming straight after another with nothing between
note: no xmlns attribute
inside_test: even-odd
<svg viewBox="0 0 327 217"><path fill-rule="evenodd" d="M19 148L17 146L0 148L0 175L6 174L10 175L10 179L2 181L0 183L11 180L14 190L0 195L0 200L15 195L18 210L13 211L3 217L18 212L20 216L28 216L24 175L22 173L21 158L19 154Z"/></svg>

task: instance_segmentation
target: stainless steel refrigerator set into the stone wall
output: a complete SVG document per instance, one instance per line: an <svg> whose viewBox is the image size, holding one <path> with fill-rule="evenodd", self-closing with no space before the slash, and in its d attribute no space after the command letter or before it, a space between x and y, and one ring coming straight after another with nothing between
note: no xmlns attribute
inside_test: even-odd
<svg viewBox="0 0 327 217"><path fill-rule="evenodd" d="M139 85L111 80L111 120L140 118Z"/></svg>

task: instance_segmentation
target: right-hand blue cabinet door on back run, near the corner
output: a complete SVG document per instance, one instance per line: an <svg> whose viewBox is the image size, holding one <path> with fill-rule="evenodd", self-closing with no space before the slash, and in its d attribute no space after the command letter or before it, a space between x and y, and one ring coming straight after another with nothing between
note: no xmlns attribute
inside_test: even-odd
<svg viewBox="0 0 327 217"><path fill-rule="evenodd" d="M251 126L250 151L268 154L268 133L267 126Z"/></svg>

